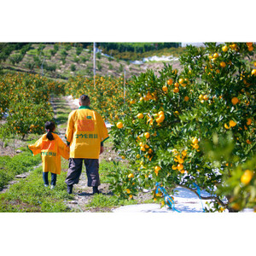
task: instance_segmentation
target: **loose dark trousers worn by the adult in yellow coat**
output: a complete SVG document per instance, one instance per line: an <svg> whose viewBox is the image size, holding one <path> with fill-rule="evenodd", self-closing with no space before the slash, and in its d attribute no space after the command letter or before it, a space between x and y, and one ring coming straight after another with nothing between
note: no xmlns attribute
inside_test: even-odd
<svg viewBox="0 0 256 256"><path fill-rule="evenodd" d="M101 183L99 176L98 159L70 158L65 183L67 183L67 185L79 183L79 177L82 173L83 162L86 168L88 187L99 186Z"/></svg>

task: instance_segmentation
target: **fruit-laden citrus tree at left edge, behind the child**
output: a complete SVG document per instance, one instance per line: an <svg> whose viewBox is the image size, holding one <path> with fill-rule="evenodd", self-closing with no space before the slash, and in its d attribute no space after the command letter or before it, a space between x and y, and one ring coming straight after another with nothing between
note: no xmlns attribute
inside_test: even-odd
<svg viewBox="0 0 256 256"><path fill-rule="evenodd" d="M0 119L3 114L7 118L0 126L1 134L18 134L23 139L30 132L44 132L44 123L53 119L50 93L63 94L64 85L32 74L3 75L0 78Z"/></svg>

